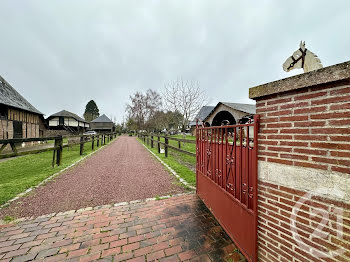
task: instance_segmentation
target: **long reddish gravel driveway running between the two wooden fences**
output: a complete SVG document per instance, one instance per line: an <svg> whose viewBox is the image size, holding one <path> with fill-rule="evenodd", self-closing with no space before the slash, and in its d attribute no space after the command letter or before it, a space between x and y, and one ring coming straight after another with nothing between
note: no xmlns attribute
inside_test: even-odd
<svg viewBox="0 0 350 262"><path fill-rule="evenodd" d="M0 210L0 218L39 216L181 192L183 187L135 137L121 136L55 180Z"/></svg>

